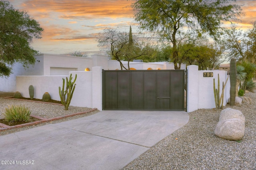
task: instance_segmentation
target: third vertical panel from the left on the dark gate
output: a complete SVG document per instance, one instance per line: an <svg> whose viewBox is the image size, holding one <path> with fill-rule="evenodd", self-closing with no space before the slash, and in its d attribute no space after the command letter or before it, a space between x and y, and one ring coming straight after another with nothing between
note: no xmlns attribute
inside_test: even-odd
<svg viewBox="0 0 256 170"><path fill-rule="evenodd" d="M131 72L131 109L143 109L143 73Z"/></svg>

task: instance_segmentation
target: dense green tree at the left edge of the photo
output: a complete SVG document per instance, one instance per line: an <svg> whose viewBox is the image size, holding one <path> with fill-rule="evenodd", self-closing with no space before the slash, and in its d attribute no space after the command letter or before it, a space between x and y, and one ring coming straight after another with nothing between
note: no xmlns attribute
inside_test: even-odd
<svg viewBox="0 0 256 170"><path fill-rule="evenodd" d="M38 53L30 43L41 38L39 23L27 12L16 10L8 1L0 1L0 77L10 76L12 64L22 63L24 67L34 64L33 55Z"/></svg>

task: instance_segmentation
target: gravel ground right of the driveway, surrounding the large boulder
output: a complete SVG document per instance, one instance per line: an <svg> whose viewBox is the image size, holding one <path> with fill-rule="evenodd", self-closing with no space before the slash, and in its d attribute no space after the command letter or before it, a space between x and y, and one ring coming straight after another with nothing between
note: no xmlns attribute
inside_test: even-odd
<svg viewBox="0 0 256 170"><path fill-rule="evenodd" d="M214 135L221 109L188 113L189 122L149 149L123 170L256 170L256 93L246 92L252 104L229 106L246 118L241 141Z"/></svg>

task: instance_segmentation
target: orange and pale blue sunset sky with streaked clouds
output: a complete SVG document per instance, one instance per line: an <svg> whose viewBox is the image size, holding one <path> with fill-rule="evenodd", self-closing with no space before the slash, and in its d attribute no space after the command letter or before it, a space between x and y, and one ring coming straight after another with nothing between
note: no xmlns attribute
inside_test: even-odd
<svg viewBox="0 0 256 170"><path fill-rule="evenodd" d="M44 28L42 39L31 43L35 50L48 54L75 51L100 53L97 38L105 28L137 31L134 12L127 0L9 0L14 8L25 10ZM248 29L256 21L256 0L237 0L244 5L239 27Z"/></svg>

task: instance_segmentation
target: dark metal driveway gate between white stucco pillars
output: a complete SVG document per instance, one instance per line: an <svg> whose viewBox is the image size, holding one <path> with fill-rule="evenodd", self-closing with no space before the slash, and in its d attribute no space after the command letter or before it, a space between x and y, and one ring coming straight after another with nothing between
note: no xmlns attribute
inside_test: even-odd
<svg viewBox="0 0 256 170"><path fill-rule="evenodd" d="M103 70L103 109L184 110L184 70Z"/></svg>

